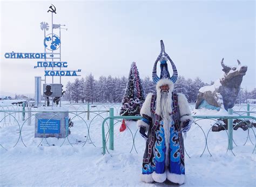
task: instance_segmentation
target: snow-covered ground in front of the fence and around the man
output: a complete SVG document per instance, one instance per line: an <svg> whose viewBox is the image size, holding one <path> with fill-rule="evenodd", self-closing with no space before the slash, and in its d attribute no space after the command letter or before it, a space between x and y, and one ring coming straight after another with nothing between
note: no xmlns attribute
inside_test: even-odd
<svg viewBox="0 0 256 187"><path fill-rule="evenodd" d="M114 150L102 155L103 120L97 117L90 125L90 120L84 119L87 126L78 117L72 120L74 126L68 139L34 138L35 127L26 123L19 136L17 123L1 125L0 144L4 148L0 146L0 186L170 185L140 182L145 141L136 133L134 121L126 122L131 131L126 128L120 133L120 123L114 126ZM210 119L198 121L206 134L212 124ZM198 125L191 127L185 139L190 158L185 157L187 180L183 186L255 186L256 155L252 154L252 143L255 143L252 131L249 131L252 142L250 139L246 142L247 131L240 128L234 131L235 156L231 151L227 152L226 132L210 131L207 143L212 156L205 149L200 157L205 148L205 136Z"/></svg>

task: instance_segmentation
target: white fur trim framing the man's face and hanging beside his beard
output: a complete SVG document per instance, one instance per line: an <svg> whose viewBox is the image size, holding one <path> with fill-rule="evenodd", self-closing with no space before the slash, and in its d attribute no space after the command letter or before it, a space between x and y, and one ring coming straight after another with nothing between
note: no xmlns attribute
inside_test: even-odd
<svg viewBox="0 0 256 187"><path fill-rule="evenodd" d="M156 113L158 115L160 115L160 113L161 113L161 89L160 89L161 85L168 85L169 86L167 104L168 104L168 106L170 106L169 113L172 112L172 106L171 105L172 105L172 91L173 91L173 88L174 88L174 84L168 78L164 78L164 79L160 79L157 82L157 85L156 85L156 89L157 89Z"/></svg>

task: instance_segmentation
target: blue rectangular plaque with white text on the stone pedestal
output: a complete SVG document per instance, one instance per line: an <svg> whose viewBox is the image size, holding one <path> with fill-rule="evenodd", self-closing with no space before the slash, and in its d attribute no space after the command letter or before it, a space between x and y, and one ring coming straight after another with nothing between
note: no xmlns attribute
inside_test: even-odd
<svg viewBox="0 0 256 187"><path fill-rule="evenodd" d="M58 134L60 132L59 119L38 119L37 133Z"/></svg>

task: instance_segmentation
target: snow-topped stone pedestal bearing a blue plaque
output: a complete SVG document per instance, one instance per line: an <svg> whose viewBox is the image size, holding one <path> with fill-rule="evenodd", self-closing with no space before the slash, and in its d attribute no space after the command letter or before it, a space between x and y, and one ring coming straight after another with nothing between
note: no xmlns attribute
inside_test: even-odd
<svg viewBox="0 0 256 187"><path fill-rule="evenodd" d="M35 138L65 138L69 135L69 111L62 107L39 107L35 119Z"/></svg>

